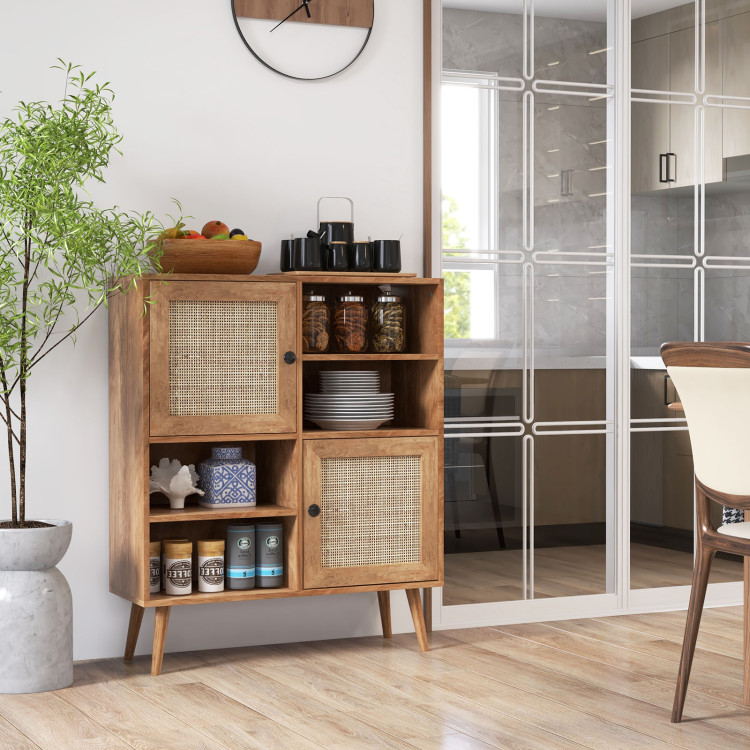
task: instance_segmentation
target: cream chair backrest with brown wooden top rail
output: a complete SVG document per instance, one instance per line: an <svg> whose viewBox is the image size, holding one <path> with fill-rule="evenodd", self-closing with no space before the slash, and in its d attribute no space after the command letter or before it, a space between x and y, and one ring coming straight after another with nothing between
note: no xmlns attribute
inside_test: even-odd
<svg viewBox="0 0 750 750"><path fill-rule="evenodd" d="M750 344L670 343L661 356L685 410L696 477L750 495Z"/></svg>

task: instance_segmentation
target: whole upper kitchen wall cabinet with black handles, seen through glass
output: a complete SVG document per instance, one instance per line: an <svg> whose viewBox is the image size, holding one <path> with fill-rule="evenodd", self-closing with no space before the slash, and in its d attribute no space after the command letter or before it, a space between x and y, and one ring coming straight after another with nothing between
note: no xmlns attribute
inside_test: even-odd
<svg viewBox="0 0 750 750"><path fill-rule="evenodd" d="M747 11L718 4L707 9L705 95L729 107L704 107L704 170L707 184L724 179L724 159L750 154L750 3ZM632 86L636 89L687 92L695 87L695 28L688 26L692 4L633 22ZM733 6L735 11L736 6ZM744 8L745 6L743 6ZM671 14L671 15L670 15ZM722 17L723 16L723 17ZM677 19L677 20L675 20ZM677 30L671 30L671 29ZM667 30L668 33L665 33ZM637 96L637 94L636 94ZM743 102L742 98L747 99ZM703 95L697 96L697 104ZM748 109L731 105L748 106ZM695 106L643 104L632 108L632 191L645 193L695 183ZM665 157L665 154L674 156ZM665 174L666 169L669 174ZM669 178L671 181L665 182Z"/></svg>

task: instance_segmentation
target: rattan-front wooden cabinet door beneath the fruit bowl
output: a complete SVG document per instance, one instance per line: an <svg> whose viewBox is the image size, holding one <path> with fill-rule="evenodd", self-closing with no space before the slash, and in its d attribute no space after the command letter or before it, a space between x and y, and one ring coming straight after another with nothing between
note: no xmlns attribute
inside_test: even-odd
<svg viewBox="0 0 750 750"><path fill-rule="evenodd" d="M151 282L151 435L295 432L294 284Z"/></svg>

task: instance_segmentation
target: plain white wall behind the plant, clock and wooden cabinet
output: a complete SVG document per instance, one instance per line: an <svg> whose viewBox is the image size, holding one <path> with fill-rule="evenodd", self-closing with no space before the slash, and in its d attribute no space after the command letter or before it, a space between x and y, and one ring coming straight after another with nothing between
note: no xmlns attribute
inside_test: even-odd
<svg viewBox="0 0 750 750"><path fill-rule="evenodd" d="M112 82L124 157L92 188L101 203L164 215L177 197L195 228L222 219L261 240L262 273L278 269L283 236L313 227L319 196L348 195L357 234L403 233L404 270L421 272L421 0L376 0L362 57L316 83L262 67L228 0L3 3L0 27L0 117L19 99L60 98L62 75L49 70L58 57ZM40 366L30 392L30 516L74 526L60 568L73 590L75 658L118 656L130 605L107 586L106 313ZM3 462L5 505L6 487ZM410 629L404 595L393 600L394 628ZM150 651L152 624L149 612L139 652ZM179 607L167 650L378 631L374 594Z"/></svg>

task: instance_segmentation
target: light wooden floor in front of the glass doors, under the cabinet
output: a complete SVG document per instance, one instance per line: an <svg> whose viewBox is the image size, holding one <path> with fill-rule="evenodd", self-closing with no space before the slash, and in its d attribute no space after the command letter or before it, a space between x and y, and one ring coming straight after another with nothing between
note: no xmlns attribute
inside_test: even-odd
<svg viewBox="0 0 750 750"><path fill-rule="evenodd" d="M0 747L750 747L740 608L706 610L685 721L669 723L685 613L86 662L57 693L0 696Z"/></svg>

